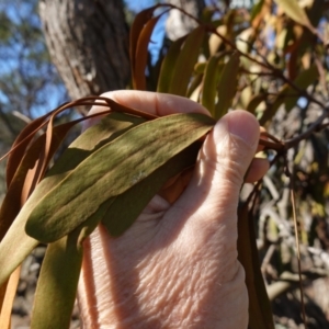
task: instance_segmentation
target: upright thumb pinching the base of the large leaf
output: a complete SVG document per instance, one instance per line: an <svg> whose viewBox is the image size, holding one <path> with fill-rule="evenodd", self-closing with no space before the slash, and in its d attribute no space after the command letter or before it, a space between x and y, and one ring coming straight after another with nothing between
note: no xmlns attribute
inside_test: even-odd
<svg viewBox="0 0 329 329"><path fill-rule="evenodd" d="M234 111L220 118L201 149L194 177L178 206L192 204L209 220L219 220L220 214L236 217L239 192L259 135L258 121L246 111Z"/></svg>

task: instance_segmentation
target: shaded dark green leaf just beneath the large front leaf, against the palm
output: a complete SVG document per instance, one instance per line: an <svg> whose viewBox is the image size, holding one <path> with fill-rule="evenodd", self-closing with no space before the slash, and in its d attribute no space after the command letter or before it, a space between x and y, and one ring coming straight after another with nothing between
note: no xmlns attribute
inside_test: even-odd
<svg viewBox="0 0 329 329"><path fill-rule="evenodd" d="M116 196L102 220L109 234L122 235L170 178L195 163L201 145L198 141L192 144L141 182Z"/></svg>

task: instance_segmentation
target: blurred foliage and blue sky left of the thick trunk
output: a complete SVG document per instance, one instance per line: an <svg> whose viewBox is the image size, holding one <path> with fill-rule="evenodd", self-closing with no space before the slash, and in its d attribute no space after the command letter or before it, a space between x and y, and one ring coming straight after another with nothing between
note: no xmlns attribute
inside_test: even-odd
<svg viewBox="0 0 329 329"><path fill-rule="evenodd" d="M38 1L0 1L0 154L31 118L67 99L45 44ZM52 95L49 98L49 95ZM0 200L4 193L0 163Z"/></svg>

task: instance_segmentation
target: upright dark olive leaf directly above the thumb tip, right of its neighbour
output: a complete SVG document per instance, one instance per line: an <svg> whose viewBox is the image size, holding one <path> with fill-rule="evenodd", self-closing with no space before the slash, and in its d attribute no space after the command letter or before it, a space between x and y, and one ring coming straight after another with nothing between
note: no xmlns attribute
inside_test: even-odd
<svg viewBox="0 0 329 329"><path fill-rule="evenodd" d="M240 58L234 53L225 65L218 83L218 102L216 104L215 118L219 120L227 113L237 91Z"/></svg>

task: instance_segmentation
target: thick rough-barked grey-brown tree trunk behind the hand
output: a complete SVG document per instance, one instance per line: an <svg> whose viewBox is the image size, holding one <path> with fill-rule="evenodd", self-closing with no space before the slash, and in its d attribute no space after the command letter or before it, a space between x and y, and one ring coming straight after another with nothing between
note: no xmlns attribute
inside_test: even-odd
<svg viewBox="0 0 329 329"><path fill-rule="evenodd" d="M52 60L72 99L126 88L128 26L121 0L42 0L39 14Z"/></svg>

